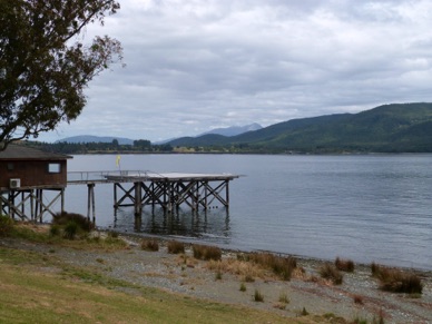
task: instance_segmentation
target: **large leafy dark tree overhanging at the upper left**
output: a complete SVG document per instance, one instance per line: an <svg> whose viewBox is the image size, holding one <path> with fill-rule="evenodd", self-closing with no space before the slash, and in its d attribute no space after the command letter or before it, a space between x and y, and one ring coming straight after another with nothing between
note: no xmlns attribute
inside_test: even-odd
<svg viewBox="0 0 432 324"><path fill-rule="evenodd" d="M76 119L84 89L121 61L116 39L78 36L104 24L120 8L114 0L0 0L0 150Z"/></svg>

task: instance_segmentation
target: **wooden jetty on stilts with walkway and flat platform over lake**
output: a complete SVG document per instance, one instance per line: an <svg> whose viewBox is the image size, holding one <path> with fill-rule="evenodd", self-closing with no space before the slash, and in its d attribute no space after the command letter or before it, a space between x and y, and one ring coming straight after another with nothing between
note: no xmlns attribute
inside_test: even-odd
<svg viewBox="0 0 432 324"><path fill-rule="evenodd" d="M161 206L173 212L180 205L193 210L208 209L214 203L229 207L229 181L238 178L232 174L183 174L153 171L69 173L68 185L87 184L88 217L95 220L95 185L114 184L114 208L132 206L140 215L146 205Z"/></svg>

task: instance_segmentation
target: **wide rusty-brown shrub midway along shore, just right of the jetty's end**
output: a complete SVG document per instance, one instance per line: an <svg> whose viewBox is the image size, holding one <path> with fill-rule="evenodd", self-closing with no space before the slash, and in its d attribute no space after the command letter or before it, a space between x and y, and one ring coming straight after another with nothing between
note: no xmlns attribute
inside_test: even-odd
<svg viewBox="0 0 432 324"><path fill-rule="evenodd" d="M249 258L273 271L284 281L289 281L293 269L297 266L297 261L293 257L276 256L271 253L253 253Z"/></svg>

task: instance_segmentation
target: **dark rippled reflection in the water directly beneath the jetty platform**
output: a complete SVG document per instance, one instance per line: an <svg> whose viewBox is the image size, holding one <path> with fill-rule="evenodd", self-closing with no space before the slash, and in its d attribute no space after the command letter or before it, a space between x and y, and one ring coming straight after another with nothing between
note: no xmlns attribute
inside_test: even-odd
<svg viewBox="0 0 432 324"><path fill-rule="evenodd" d="M229 210L217 208L194 212L178 208L171 213L161 207L146 207L136 216L132 207L115 209L114 227L120 232L146 233L226 240L230 238Z"/></svg>

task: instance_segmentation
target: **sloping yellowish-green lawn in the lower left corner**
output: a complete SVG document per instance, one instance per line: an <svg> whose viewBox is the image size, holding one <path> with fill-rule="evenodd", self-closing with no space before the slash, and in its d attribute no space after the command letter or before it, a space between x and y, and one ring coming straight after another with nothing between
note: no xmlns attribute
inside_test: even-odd
<svg viewBox="0 0 432 324"><path fill-rule="evenodd" d="M0 259L2 323L286 323L268 312L110 279L55 255L0 247Z"/></svg>

